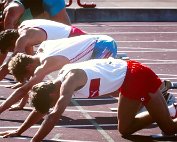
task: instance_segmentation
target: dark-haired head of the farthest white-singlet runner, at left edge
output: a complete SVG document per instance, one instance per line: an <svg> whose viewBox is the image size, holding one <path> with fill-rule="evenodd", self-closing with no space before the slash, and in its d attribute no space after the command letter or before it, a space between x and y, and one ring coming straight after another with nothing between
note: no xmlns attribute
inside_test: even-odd
<svg viewBox="0 0 177 142"><path fill-rule="evenodd" d="M19 37L16 29L8 29L0 32L0 52L7 53L13 51L15 42Z"/></svg>

